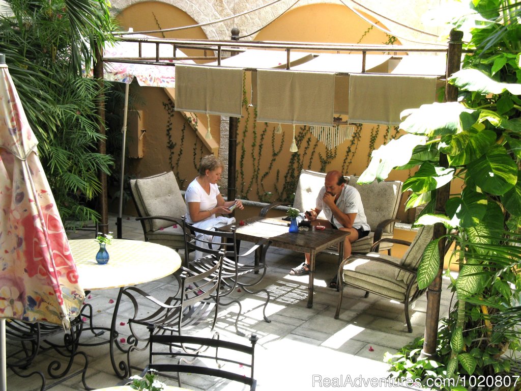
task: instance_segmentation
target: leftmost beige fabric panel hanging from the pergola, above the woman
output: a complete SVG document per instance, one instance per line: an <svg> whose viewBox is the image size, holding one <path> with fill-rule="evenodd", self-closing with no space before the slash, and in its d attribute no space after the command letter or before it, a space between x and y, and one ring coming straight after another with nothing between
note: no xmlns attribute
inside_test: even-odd
<svg viewBox="0 0 521 391"><path fill-rule="evenodd" d="M176 65L176 110L242 115L241 68Z"/></svg>

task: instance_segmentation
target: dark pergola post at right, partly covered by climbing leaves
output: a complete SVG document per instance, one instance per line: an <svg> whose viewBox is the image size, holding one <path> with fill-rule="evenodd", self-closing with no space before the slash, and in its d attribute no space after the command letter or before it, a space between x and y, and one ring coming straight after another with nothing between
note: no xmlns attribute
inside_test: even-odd
<svg viewBox="0 0 521 391"><path fill-rule="evenodd" d="M448 79L454 72L461 67L463 32L451 30L449 48L447 51L447 67L445 79ZM454 85L445 81L445 102L457 101L458 90ZM449 162L444 153L440 153L440 166L447 168ZM436 190L436 213L445 214L445 203L449 199L450 182ZM434 226L434 238L440 238L447 233L445 226L437 223ZM440 317L440 298L441 298L441 275L443 273L443 260L445 255L445 238L439 241L440 265L438 274L427 289L427 314L425 321L425 340L421 351L422 357L433 357L436 355L436 345L438 339L438 320Z"/></svg>

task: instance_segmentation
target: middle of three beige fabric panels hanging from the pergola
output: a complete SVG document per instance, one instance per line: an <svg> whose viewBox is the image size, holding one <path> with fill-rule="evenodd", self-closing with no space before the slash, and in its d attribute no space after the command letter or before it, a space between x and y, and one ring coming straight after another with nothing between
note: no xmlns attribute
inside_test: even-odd
<svg viewBox="0 0 521 391"><path fill-rule="evenodd" d="M333 125L334 74L258 70L257 120Z"/></svg>

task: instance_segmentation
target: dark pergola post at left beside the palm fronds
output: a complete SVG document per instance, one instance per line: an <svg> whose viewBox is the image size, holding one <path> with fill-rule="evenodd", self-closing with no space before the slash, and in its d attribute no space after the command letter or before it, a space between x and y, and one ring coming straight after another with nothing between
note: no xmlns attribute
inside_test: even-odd
<svg viewBox="0 0 521 391"><path fill-rule="evenodd" d="M103 50L103 49L102 49ZM94 46L94 78L97 80L100 90L98 93L98 101L96 102L97 114L98 114L98 128L100 134L106 136L107 132L105 129L105 82L103 81L103 52L96 45ZM107 144L105 140L100 140L98 143L98 152L105 155L107 153ZM98 198L98 212L101 215L101 226L100 230L104 233L108 233L108 191L107 191L107 174L100 171L98 177L101 182L101 194Z"/></svg>

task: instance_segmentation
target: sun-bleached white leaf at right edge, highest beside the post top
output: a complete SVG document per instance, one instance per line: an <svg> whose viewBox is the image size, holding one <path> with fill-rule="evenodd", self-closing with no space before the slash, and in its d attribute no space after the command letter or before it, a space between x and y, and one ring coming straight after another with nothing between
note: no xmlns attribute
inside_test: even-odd
<svg viewBox="0 0 521 391"><path fill-rule="evenodd" d="M449 82L464 91L477 91L483 95L500 94L508 91L514 95L521 95L521 84L500 83L477 69L462 69L451 77Z"/></svg>

